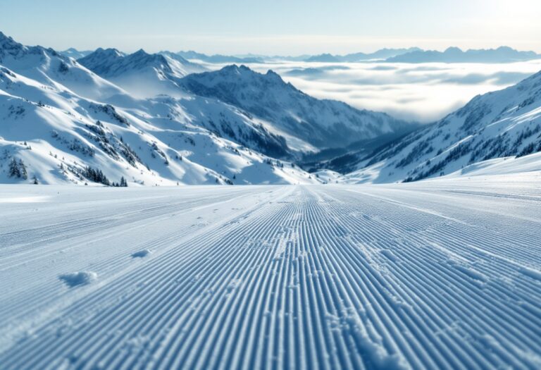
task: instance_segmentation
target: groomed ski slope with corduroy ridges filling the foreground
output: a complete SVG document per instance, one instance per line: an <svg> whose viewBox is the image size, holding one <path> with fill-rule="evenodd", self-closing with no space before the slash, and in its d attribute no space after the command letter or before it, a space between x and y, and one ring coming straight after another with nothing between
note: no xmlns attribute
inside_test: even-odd
<svg viewBox="0 0 541 370"><path fill-rule="evenodd" d="M1 369L540 369L541 173L0 187Z"/></svg>

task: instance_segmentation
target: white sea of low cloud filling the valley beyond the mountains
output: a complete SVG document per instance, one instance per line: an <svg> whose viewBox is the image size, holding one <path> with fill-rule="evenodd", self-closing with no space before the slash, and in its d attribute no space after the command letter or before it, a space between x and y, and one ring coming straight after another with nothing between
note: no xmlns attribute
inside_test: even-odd
<svg viewBox="0 0 541 370"><path fill-rule="evenodd" d="M304 63L253 64L274 70L299 90L359 109L398 118L436 121L477 94L500 90L541 70L541 60L506 63Z"/></svg>

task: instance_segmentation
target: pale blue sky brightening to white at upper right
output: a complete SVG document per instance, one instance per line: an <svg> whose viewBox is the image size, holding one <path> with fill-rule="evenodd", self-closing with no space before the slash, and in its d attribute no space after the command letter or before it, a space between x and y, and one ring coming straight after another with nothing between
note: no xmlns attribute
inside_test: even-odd
<svg viewBox="0 0 541 370"><path fill-rule="evenodd" d="M2 0L0 30L23 44L123 51L344 54L381 47L541 52L535 0Z"/></svg>

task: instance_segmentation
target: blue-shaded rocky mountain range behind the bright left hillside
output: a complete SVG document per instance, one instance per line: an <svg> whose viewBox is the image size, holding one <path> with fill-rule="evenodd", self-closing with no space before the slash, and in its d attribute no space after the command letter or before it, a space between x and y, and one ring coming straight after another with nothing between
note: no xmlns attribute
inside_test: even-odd
<svg viewBox="0 0 541 370"><path fill-rule="evenodd" d="M385 113L314 99L272 71L263 75L234 65L187 75L201 66L167 52L124 56L114 49L98 49L79 63L136 97L181 98L184 110L208 130L279 158L416 127ZM207 113L201 115L201 111ZM234 120L231 111L235 111ZM239 118L242 123L232 122Z"/></svg>

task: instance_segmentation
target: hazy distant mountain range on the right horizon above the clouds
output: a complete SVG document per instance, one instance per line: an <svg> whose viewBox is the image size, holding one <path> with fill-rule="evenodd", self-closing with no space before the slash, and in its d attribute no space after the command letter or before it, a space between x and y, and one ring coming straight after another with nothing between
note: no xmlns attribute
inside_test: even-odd
<svg viewBox="0 0 541 370"><path fill-rule="evenodd" d="M387 58L393 63L511 63L516 61L531 61L541 58L533 51L517 51L510 47L497 49L470 49L462 51L457 47L449 47L445 51L411 51L411 53Z"/></svg>

